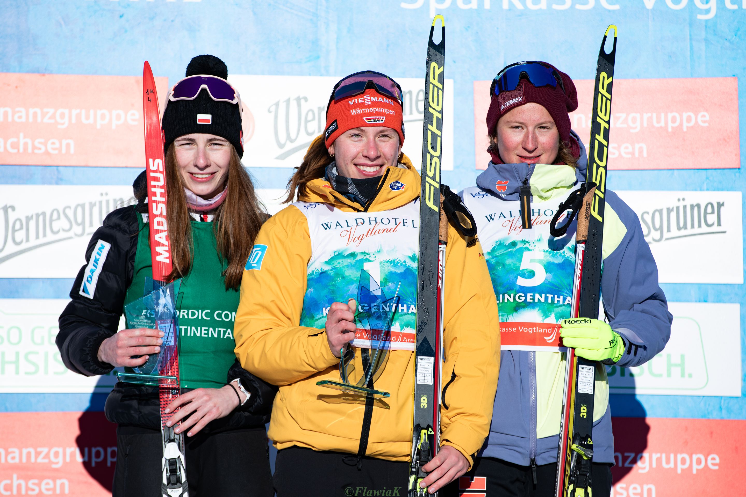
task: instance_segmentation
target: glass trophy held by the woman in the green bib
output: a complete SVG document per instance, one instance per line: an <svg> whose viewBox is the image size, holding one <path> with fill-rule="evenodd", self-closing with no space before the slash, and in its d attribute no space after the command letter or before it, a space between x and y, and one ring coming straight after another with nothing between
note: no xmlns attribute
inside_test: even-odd
<svg viewBox="0 0 746 497"><path fill-rule="evenodd" d="M149 355L148 361L142 366L114 373L120 382L179 386L176 376L164 376L162 373L173 355L178 354L176 297L180 287L181 279L161 286L159 282L145 278L145 297L125 306L128 328L160 329L163 344L160 345L160 352Z"/></svg>

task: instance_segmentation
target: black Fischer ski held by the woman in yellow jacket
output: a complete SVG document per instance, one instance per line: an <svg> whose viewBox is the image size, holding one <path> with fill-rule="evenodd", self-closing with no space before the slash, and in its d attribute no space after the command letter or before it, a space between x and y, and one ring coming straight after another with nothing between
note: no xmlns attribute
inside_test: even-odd
<svg viewBox="0 0 746 497"><path fill-rule="evenodd" d="M440 19L440 42L433 41ZM427 496L420 482L427 476L422 466L437 453L440 443L440 392L442 364L442 283L445 264L445 215L441 223L440 162L443 143L443 85L445 84L445 20L435 16L430 27L425 66L425 102L422 127L422 188L420 193L419 268L417 271L417 339L415 345L414 428L412 466L407 484L410 497Z"/></svg>

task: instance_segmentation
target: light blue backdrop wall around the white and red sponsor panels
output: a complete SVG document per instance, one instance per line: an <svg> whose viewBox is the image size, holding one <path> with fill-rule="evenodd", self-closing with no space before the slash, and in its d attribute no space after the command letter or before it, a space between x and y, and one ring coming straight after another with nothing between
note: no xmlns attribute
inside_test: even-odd
<svg viewBox="0 0 746 497"><path fill-rule="evenodd" d="M430 19L442 13L446 77L455 83L454 170L444 181L459 190L477 175L474 80L489 80L507 63L526 59L548 60L571 77L591 79L598 44L613 23L619 28L616 77L736 76L739 108L745 109L745 9L746 0L6 0L0 2L0 72L142 75L147 59L155 75L172 84L192 56L210 53L222 57L231 74L342 77L375 69L423 77ZM739 125L743 161L746 129ZM745 190L741 169L706 166L612 171L609 187ZM251 168L257 186L269 189L284 188L291 172ZM0 165L0 184L128 185L138 173ZM65 298L71 285L72 279L0 279L0 297ZM746 308L743 285L662 286L672 301ZM0 411L101 410L104 397L2 394ZM612 410L615 416L746 419L746 399L612 395Z"/></svg>

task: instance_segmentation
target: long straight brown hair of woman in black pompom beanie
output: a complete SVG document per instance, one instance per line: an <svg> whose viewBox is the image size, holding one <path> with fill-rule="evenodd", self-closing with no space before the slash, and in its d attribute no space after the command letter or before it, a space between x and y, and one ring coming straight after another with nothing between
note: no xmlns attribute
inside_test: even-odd
<svg viewBox="0 0 746 497"><path fill-rule="evenodd" d="M254 247L254 238L269 217L263 204L257 199L254 183L248 171L241 164L236 149L231 146L231 162L228 164L228 189L225 200L218 207L213 221L215 238L220 258L228 262L222 276L225 289L238 289L241 285L243 268ZM184 181L178 172L174 145L166 151L166 193L169 221L169 241L173 270L169 280L184 277L192 269L194 244L192 224L184 194Z"/></svg>

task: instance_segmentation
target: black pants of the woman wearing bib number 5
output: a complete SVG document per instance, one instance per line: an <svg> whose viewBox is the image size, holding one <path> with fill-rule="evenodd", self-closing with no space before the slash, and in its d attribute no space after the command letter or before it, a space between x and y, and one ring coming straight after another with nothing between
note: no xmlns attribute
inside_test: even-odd
<svg viewBox="0 0 746 497"><path fill-rule="evenodd" d="M485 497L554 497L557 463L536 466L536 485L533 484L531 466L518 466L518 464L495 458L477 458L474 461L474 467L462 478L466 477L469 480L459 481L457 479L439 495L468 497L476 493ZM473 481L473 483L470 490L465 490L468 487L466 485L468 481ZM591 469L593 497L609 497L611 483L611 464L593 463Z"/></svg>

